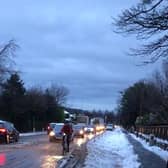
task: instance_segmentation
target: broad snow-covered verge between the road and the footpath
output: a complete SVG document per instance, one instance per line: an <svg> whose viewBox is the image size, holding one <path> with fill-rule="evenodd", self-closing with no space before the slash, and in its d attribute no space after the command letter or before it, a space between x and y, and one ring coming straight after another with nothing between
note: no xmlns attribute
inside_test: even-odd
<svg viewBox="0 0 168 168"><path fill-rule="evenodd" d="M107 131L87 144L85 168L138 168L138 156L120 128Z"/></svg>

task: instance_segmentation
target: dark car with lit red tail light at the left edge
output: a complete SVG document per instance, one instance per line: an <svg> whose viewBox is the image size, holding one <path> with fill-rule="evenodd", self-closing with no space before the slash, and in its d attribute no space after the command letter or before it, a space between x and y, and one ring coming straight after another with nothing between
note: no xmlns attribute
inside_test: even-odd
<svg viewBox="0 0 168 168"><path fill-rule="evenodd" d="M0 120L0 141L5 143L17 142L19 140L19 131L14 125L7 121Z"/></svg>

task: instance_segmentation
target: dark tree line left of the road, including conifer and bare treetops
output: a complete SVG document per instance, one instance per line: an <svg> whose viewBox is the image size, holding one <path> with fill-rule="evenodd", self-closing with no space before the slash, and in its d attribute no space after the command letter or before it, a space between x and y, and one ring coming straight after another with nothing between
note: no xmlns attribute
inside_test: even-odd
<svg viewBox="0 0 168 168"><path fill-rule="evenodd" d="M0 119L14 123L21 132L42 130L52 121L62 122L67 88L51 85L26 89L11 66L17 48L13 40L0 45Z"/></svg>

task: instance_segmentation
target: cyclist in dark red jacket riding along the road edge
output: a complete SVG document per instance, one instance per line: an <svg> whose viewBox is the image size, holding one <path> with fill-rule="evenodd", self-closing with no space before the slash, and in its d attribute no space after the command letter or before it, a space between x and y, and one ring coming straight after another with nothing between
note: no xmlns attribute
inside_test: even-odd
<svg viewBox="0 0 168 168"><path fill-rule="evenodd" d="M67 136L67 152L69 152L69 144L70 144L70 141L71 141L71 136L72 136L72 133L73 133L73 129L72 129L72 125L69 123L69 121L65 120L64 122L64 126L62 127L61 129L61 133L62 134L65 134ZM63 136L63 142L64 142L64 138L65 136Z"/></svg>

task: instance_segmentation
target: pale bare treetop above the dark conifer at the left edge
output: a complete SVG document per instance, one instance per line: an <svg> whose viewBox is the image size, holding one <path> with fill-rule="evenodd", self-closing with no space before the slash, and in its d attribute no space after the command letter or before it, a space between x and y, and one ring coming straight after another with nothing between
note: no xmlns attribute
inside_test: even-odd
<svg viewBox="0 0 168 168"><path fill-rule="evenodd" d="M2 83L7 74L14 72L12 70L12 64L14 64L12 57L15 55L14 53L17 48L18 45L14 40L0 45L0 83Z"/></svg>

